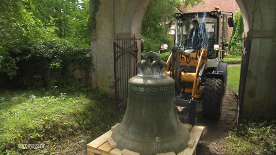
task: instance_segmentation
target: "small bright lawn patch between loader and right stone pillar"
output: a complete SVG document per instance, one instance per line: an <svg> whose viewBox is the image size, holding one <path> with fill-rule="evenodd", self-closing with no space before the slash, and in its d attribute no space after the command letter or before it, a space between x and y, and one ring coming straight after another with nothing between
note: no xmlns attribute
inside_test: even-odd
<svg viewBox="0 0 276 155"><path fill-rule="evenodd" d="M227 87L232 93L239 93L241 66L228 66Z"/></svg>

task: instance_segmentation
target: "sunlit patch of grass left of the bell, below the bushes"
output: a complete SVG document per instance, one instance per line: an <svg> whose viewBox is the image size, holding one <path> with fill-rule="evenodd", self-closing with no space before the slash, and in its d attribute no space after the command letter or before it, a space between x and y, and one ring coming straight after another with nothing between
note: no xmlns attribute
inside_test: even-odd
<svg viewBox="0 0 276 155"><path fill-rule="evenodd" d="M0 154L53 154L56 143L80 136L84 137L81 145L117 122L114 99L98 91L1 90ZM22 149L18 144L46 148Z"/></svg>

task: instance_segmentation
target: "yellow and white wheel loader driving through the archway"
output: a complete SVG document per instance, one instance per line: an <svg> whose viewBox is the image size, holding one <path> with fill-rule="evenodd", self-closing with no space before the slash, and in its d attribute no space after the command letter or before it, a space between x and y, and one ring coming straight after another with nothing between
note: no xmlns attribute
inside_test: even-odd
<svg viewBox="0 0 276 155"><path fill-rule="evenodd" d="M230 17L228 17L230 16ZM234 26L233 13L176 13L169 17L174 46L164 71L175 80L175 104L182 121L195 124L195 109L202 104L203 116L218 120L226 90L227 25Z"/></svg>

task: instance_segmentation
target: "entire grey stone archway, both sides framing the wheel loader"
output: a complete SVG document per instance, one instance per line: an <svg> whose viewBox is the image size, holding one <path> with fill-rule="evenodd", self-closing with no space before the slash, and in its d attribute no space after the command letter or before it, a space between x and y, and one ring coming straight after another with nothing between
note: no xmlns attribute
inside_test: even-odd
<svg viewBox="0 0 276 155"><path fill-rule="evenodd" d="M92 30L93 87L114 93L113 42L135 36L140 47L140 27L151 0L100 0L96 28ZM276 1L236 0L243 16L244 34L250 37L250 57L243 88L242 117L274 117L276 109ZM90 0L90 6L93 6ZM93 7L90 8L92 13ZM254 22L252 21L254 15ZM254 26L254 27L252 27ZM253 29L253 30L252 30ZM273 44L274 43L274 44ZM140 49L139 49L140 50Z"/></svg>

